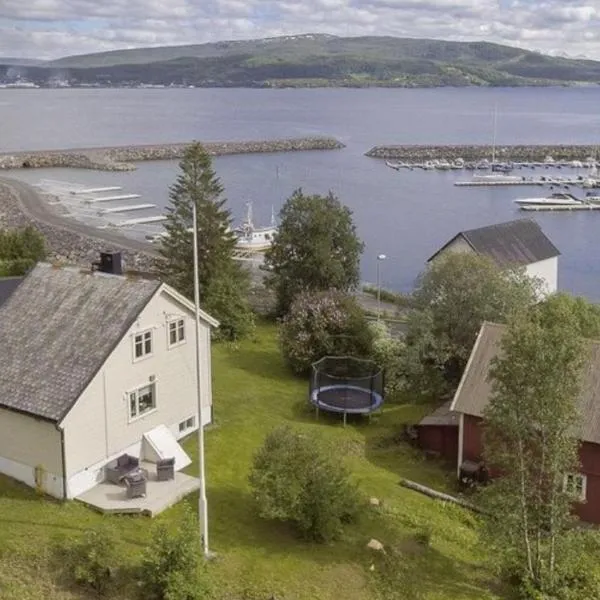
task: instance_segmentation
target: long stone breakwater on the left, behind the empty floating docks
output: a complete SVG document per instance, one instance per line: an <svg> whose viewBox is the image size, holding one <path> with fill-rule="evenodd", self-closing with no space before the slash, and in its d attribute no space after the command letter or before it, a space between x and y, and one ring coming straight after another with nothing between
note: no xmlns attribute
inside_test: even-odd
<svg viewBox="0 0 600 600"><path fill-rule="evenodd" d="M177 160L189 144L155 144L81 148L75 150L34 150L0 154L0 169L74 167L101 171L132 171L136 162ZM334 138L310 137L247 142L209 142L204 147L213 156L267 152L336 150L344 145Z"/></svg>

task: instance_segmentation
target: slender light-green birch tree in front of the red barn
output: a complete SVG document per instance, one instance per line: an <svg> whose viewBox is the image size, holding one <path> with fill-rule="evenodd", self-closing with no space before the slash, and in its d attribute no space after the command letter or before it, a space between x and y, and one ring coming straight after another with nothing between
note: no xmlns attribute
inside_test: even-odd
<svg viewBox="0 0 600 600"><path fill-rule="evenodd" d="M485 410L484 453L500 474L484 493L490 540L525 589L555 594L572 524L578 471L578 395L586 344L577 317L544 310L511 320L494 359ZM544 596L546 597L546 596Z"/></svg>

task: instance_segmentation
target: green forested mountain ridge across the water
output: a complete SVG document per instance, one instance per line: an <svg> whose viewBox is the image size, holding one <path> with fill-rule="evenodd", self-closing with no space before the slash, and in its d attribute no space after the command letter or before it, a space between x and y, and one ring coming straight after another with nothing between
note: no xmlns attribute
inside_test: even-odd
<svg viewBox="0 0 600 600"><path fill-rule="evenodd" d="M6 64L6 63L5 63ZM600 62L486 42L304 35L71 56L21 67L43 81L205 87L531 86L600 82ZM1 74L1 73L0 73Z"/></svg>

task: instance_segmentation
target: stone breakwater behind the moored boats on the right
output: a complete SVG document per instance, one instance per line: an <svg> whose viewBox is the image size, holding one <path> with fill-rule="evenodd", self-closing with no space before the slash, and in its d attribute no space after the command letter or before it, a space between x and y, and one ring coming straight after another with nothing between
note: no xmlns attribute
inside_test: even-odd
<svg viewBox="0 0 600 600"><path fill-rule="evenodd" d="M496 146L496 160L514 162L543 162L548 156L555 161L580 160L593 157L596 146L587 145L521 145ZM492 158L492 147L487 145L453 146L375 146L366 153L372 158L386 158L406 163L423 163L428 160L453 161L462 158L465 161L478 161Z"/></svg>

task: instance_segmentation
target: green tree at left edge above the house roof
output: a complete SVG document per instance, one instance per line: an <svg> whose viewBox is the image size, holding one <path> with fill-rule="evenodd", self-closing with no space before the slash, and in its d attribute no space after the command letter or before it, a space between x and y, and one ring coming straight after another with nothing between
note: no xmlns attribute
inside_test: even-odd
<svg viewBox="0 0 600 600"><path fill-rule="evenodd" d="M0 277L24 275L45 257L44 236L34 227L0 231Z"/></svg>

